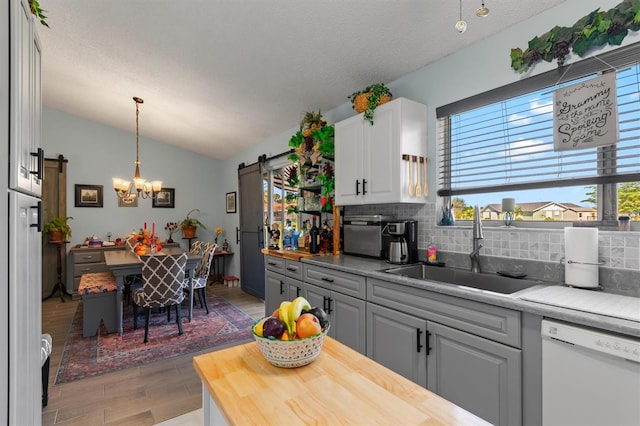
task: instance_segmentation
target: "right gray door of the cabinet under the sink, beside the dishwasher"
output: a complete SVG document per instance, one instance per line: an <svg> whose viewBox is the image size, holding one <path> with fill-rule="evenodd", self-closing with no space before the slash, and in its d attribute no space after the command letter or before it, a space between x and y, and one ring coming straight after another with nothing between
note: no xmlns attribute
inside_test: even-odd
<svg viewBox="0 0 640 426"><path fill-rule="evenodd" d="M428 389L495 425L522 424L521 350L434 322Z"/></svg>

